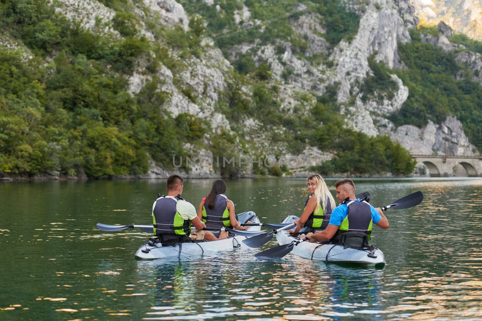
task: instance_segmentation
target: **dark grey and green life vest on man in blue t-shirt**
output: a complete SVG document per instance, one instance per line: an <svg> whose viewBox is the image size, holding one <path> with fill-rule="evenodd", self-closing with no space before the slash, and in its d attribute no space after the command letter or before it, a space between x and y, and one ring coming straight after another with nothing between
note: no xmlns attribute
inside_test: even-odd
<svg viewBox="0 0 482 321"><path fill-rule="evenodd" d="M348 207L348 215L341 222L337 235L346 232L362 232L368 235L368 240L370 240L373 225L370 204L366 201L357 202L354 200L346 200L343 203Z"/></svg>

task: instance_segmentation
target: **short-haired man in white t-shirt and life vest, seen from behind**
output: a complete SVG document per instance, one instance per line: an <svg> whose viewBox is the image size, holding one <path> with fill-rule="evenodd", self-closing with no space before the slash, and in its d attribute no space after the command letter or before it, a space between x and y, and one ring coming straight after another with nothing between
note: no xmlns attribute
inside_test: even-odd
<svg viewBox="0 0 482 321"><path fill-rule="evenodd" d="M198 218L194 205L181 197L183 179L171 175L167 179L167 195L159 197L152 205L154 234L159 235L161 242L171 243L174 240L218 240L228 237L228 232L220 231L217 238L210 231L202 231L206 224ZM195 230L191 230L191 224Z"/></svg>

